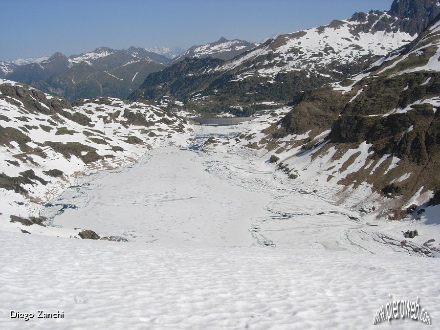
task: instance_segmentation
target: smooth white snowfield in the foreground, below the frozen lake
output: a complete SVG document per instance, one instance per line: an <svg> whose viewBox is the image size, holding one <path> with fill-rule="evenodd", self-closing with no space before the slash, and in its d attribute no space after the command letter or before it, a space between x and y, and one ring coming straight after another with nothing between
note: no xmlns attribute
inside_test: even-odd
<svg viewBox="0 0 440 330"><path fill-rule="evenodd" d="M378 308L417 297L431 325L440 318L440 259L1 237L2 329L377 329Z"/></svg>

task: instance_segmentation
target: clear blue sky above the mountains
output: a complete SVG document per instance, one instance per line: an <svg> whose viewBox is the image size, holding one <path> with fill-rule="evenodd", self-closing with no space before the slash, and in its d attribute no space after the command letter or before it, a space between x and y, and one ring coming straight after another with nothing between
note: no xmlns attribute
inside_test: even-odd
<svg viewBox="0 0 440 330"><path fill-rule="evenodd" d="M7 0L1 1L0 60L66 56L99 46L179 46L220 37L261 41L389 10L392 0Z"/></svg>

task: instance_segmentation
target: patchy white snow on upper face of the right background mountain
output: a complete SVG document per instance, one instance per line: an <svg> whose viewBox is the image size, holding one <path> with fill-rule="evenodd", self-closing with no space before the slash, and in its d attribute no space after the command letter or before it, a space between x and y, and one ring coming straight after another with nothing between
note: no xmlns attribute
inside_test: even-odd
<svg viewBox="0 0 440 330"><path fill-rule="evenodd" d="M376 14L368 13L367 20L370 15ZM378 17L377 22L382 18L389 19L390 15L383 13ZM258 70L253 66L241 70L239 80L252 75L275 77L280 72L305 69L316 75L331 77L327 74L327 66L334 61L353 63L362 56L370 54L385 56L417 36L401 31L389 33L373 29L367 32L353 32L353 28L358 24L360 23L349 20L334 21L327 26L280 36L271 44L257 47L234 61L219 66L216 70L230 70L248 60L263 55L269 56L272 53L271 59L265 56L264 62L261 60Z"/></svg>

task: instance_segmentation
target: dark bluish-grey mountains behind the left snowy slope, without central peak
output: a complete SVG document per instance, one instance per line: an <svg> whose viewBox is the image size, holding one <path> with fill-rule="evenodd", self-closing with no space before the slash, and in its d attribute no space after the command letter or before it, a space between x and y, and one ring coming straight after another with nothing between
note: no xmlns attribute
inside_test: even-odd
<svg viewBox="0 0 440 330"><path fill-rule="evenodd" d="M165 67L149 58L142 59L145 54L137 48L130 48L130 52L129 56L125 51L101 47L70 58L57 52L41 63L17 67L6 78L69 101L96 96L126 98L148 74ZM112 69L107 72L99 67Z"/></svg>

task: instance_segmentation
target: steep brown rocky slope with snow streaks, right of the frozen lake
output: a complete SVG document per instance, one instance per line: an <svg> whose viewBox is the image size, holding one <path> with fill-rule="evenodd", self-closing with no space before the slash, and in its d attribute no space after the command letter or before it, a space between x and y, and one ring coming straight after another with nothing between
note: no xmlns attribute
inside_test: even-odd
<svg viewBox="0 0 440 330"><path fill-rule="evenodd" d="M263 136L240 143L270 151L291 179L338 204L402 218L440 190L439 56L438 16L411 44L304 93Z"/></svg>

